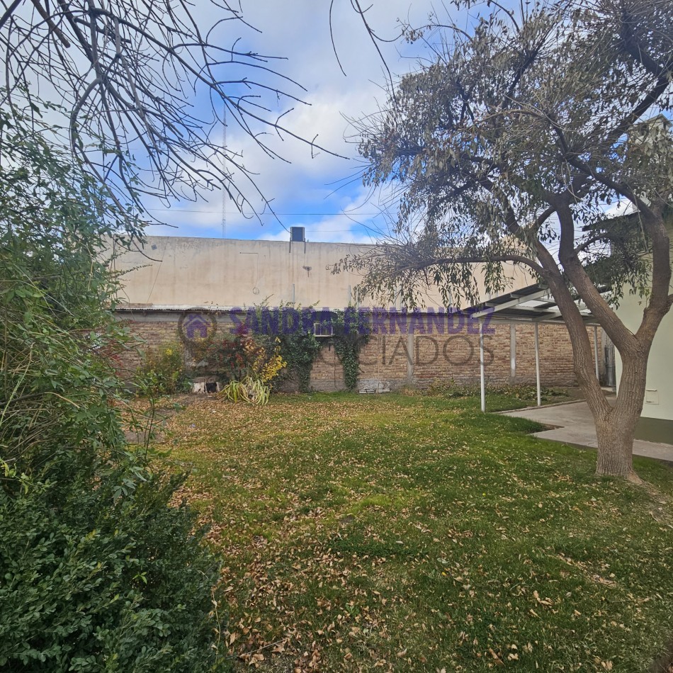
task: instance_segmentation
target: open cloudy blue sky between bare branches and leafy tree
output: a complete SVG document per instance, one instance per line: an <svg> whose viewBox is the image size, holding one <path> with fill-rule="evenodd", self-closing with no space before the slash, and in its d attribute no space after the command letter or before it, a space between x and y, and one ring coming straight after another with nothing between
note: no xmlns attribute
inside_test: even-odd
<svg viewBox="0 0 673 673"><path fill-rule="evenodd" d="M217 20L217 11L208 0L196 0L196 5L203 8L204 23ZM239 50L283 57L273 67L305 89L283 85L305 103L293 103L293 111L283 122L301 137L310 140L317 135L318 144L341 157L317 152L289 137L270 135L266 141L286 161L269 159L230 123L227 147L242 153L246 168L256 174L256 186L271 200L280 222L270 213L261 215L261 222L245 217L227 198L223 227L222 192L213 191L205 194L205 200L174 203L169 208L164 203L147 203L150 213L166 223L152 225L147 233L288 240L290 227L303 226L307 240L313 242L373 242L377 232L385 230L380 206L388 202L388 195L363 187L358 175L363 164L349 119L363 118L385 105L388 76L350 0L334 0L332 13L334 43L345 75L330 39L329 0L242 0L242 9L244 19L260 32L228 22L218 39L229 43L240 37ZM430 0L373 0L366 16L381 38L392 39L400 34L399 18L419 25L431 10ZM418 67L419 45L397 41L380 43L380 48L394 75ZM278 79L268 81L279 83ZM264 102L279 111L290 107L282 101L278 106L274 95ZM253 193L251 186L247 193ZM253 199L253 203L261 208L261 201Z"/></svg>

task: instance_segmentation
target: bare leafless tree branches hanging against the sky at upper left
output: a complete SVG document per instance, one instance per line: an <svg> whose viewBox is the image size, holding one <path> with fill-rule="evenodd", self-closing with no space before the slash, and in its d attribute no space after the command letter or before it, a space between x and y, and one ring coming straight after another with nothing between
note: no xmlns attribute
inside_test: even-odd
<svg viewBox="0 0 673 673"><path fill-rule="evenodd" d="M15 0L0 18L0 103L30 109L33 91L52 86L72 151L118 203L222 188L239 208L273 212L242 157L213 139L223 112L269 157L281 158L268 132L329 150L283 124L276 106L301 103L302 88L278 59L222 45L225 25L248 26L239 10L213 0L211 11L205 30L188 0Z"/></svg>

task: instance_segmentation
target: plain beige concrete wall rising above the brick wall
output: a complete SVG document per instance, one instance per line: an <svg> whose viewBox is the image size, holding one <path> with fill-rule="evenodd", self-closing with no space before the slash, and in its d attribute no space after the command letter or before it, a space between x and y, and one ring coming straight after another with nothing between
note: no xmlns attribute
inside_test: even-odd
<svg viewBox="0 0 673 673"><path fill-rule="evenodd" d="M116 260L122 277L121 302L152 306L244 307L268 300L270 305L348 306L361 278L331 272L346 255L370 246L340 243L293 243L236 239L148 237L143 251ZM478 270L475 272L478 273ZM511 288L535 282L511 266ZM480 283L483 286L483 283ZM423 288L429 306L443 302L436 290ZM487 299L485 293L482 298ZM378 305L373 299L365 305Z"/></svg>

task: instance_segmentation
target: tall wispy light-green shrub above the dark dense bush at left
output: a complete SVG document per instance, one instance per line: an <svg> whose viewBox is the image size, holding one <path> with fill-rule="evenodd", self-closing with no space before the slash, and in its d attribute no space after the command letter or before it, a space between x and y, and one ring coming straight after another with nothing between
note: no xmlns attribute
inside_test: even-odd
<svg viewBox="0 0 673 673"><path fill-rule="evenodd" d="M123 446L109 365L125 334L109 309L118 209L17 119L0 111L0 456L21 475Z"/></svg>

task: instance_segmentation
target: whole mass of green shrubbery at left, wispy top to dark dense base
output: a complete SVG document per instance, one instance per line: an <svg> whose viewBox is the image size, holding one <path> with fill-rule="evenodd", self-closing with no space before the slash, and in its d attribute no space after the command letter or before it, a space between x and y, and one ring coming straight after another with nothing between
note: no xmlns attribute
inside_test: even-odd
<svg viewBox="0 0 673 673"><path fill-rule="evenodd" d="M142 232L17 120L0 113L0 668L208 670L217 564L169 506L180 480L128 450L111 366L111 249Z"/></svg>

